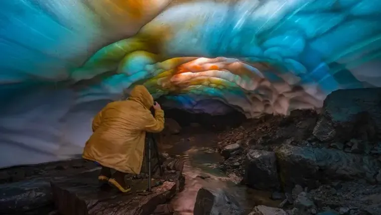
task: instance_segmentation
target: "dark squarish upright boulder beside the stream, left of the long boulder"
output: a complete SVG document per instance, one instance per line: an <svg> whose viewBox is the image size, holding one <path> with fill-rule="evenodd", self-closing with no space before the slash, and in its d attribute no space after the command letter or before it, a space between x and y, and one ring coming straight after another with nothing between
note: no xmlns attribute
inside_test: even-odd
<svg viewBox="0 0 381 215"><path fill-rule="evenodd" d="M246 154L245 182L259 190L279 190L274 152L250 149Z"/></svg>

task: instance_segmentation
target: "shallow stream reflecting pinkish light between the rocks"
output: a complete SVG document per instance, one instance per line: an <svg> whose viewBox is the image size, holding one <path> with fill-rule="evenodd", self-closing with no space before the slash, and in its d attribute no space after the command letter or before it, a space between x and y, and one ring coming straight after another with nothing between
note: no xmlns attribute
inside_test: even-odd
<svg viewBox="0 0 381 215"><path fill-rule="evenodd" d="M275 207L280 202L271 201L270 193L255 191L238 186L238 181L227 177L218 169L222 157L215 150L217 135L196 128L184 128L181 135L173 136L165 145L170 154L179 154L184 158L183 174L186 177L184 191L171 202L180 215L193 215L197 192L201 187L225 189L249 213L256 205Z"/></svg>

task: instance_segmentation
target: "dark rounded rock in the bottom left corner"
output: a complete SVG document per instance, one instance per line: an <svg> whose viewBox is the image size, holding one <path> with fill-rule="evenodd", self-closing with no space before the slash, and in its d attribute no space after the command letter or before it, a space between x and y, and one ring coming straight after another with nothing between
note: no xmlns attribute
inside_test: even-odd
<svg viewBox="0 0 381 215"><path fill-rule="evenodd" d="M32 179L0 185L0 214L23 214L53 203L50 183Z"/></svg>

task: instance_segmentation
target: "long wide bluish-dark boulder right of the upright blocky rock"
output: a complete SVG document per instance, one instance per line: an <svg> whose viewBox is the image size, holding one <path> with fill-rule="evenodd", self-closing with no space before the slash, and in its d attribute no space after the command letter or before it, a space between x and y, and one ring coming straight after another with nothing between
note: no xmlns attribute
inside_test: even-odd
<svg viewBox="0 0 381 215"><path fill-rule="evenodd" d="M369 155L339 150L283 145L276 151L284 187L296 184L314 189L318 181L356 180L378 173L378 161Z"/></svg>

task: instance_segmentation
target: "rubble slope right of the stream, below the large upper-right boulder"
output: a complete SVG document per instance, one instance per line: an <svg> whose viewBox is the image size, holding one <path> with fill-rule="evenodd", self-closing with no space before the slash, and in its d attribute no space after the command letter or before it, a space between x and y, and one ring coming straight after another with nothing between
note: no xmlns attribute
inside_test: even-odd
<svg viewBox="0 0 381 215"><path fill-rule="evenodd" d="M381 141L320 141L313 135L318 118L295 110L220 134L221 170L284 200L281 211L262 207L251 215L381 215Z"/></svg>

